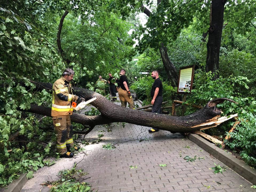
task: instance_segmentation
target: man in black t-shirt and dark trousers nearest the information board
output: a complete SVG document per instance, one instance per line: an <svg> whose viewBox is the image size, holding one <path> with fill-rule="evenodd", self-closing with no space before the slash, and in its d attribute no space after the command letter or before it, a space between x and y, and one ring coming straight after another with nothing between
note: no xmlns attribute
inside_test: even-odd
<svg viewBox="0 0 256 192"><path fill-rule="evenodd" d="M162 106L162 102L163 102L163 85L162 85L162 81L159 78L159 73L158 71L152 71L151 73L151 77L153 79L155 79L151 91L150 91L150 95L151 95L151 104L152 106L152 113L160 113L162 114L162 110L161 110L161 106ZM151 128L149 129L149 133L153 133L159 131L156 128Z"/></svg>

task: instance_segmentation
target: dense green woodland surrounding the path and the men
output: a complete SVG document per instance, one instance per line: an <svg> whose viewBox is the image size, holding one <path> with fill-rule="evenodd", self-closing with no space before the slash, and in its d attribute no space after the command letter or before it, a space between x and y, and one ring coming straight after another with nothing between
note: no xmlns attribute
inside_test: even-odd
<svg viewBox="0 0 256 192"><path fill-rule="evenodd" d="M237 102L217 105L223 115L238 113L240 121L226 146L256 167L255 12L253 0L1 1L0 188L19 173L31 178L30 166L35 171L49 163L45 157L56 157L51 118L26 111L51 106L51 91L35 87L53 83L66 68L75 71L74 87L106 98L108 85L98 76L118 77L124 68L145 105L154 80L138 72L158 70L163 99L171 106L183 97L177 94L179 68L195 65L187 103ZM187 107L185 115L195 111ZM106 123L101 120L98 124ZM233 124L206 132L222 138ZM81 124L75 127L84 130Z"/></svg>

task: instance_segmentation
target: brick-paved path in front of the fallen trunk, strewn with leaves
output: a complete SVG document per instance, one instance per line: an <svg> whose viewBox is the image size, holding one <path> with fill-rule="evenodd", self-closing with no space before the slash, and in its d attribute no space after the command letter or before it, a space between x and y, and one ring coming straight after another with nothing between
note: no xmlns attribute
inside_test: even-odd
<svg viewBox="0 0 256 192"><path fill-rule="evenodd" d="M99 192L256 191L250 188L251 183L228 167L223 174L214 174L209 169L215 166L214 163L225 165L181 134L163 130L148 133L148 129L127 123L123 128L122 123L113 123L112 131L107 132L106 127L96 126L85 139L92 141L98 134L104 136L98 144L84 147L87 155L80 153L75 158L60 159L53 166L43 167L21 192L38 192L42 189L40 183L56 179L59 170L72 168L74 162L78 163L78 169L89 173L86 182ZM115 144L116 149L103 149L102 145L106 143ZM186 155L205 159L186 162L183 159ZM159 164L166 164L166 167ZM42 189L42 192L46 191L49 191L47 187Z"/></svg>

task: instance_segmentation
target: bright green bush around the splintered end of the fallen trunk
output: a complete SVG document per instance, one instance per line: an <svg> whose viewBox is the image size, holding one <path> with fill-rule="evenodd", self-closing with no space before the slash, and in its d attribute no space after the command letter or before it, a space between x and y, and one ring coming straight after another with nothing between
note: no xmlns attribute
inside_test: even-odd
<svg viewBox="0 0 256 192"><path fill-rule="evenodd" d="M238 104L224 102L217 105L221 108L223 115L230 113L238 113L238 120L241 122L233 133L230 133L231 140L226 141L227 146L232 150L239 151L242 159L249 165L256 167L256 101L254 98L246 97L241 94L241 90L249 89L246 77L234 77L230 75L228 78L219 77L216 81L211 80L212 74L203 75L201 71L195 74L194 88L192 94L188 95L188 103L196 103L205 105L214 98L229 98ZM193 110L187 110L192 113ZM225 134L234 124L234 122L222 123L218 129ZM211 131L212 129L208 129Z"/></svg>

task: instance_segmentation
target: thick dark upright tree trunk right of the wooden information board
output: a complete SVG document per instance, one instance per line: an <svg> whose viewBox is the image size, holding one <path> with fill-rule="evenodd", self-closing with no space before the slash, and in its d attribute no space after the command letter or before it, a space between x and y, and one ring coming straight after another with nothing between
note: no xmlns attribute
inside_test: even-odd
<svg viewBox="0 0 256 192"><path fill-rule="evenodd" d="M206 73L211 71L213 80L219 77L219 50L221 46L221 34L223 27L224 5L226 0L212 0L210 27L207 42Z"/></svg>

